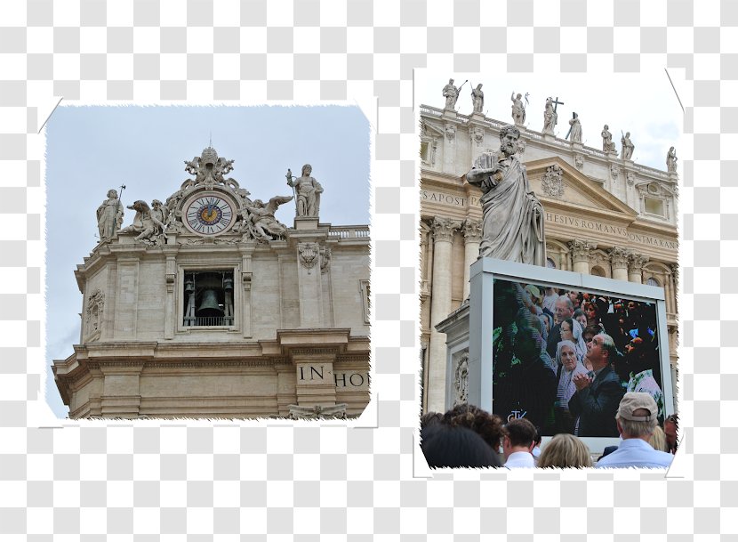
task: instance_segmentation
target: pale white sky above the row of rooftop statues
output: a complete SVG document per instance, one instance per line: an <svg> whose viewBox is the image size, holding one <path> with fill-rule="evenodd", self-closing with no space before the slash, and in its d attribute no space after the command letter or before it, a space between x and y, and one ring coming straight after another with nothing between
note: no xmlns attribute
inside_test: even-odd
<svg viewBox="0 0 738 542"><path fill-rule="evenodd" d="M671 73L679 89L678 73ZM562 101L558 105L558 125L555 133L564 139L569 131L569 119L576 112L582 123L582 142L587 147L602 150L602 128L609 126L618 155L621 152L622 133L630 132L635 145L633 160L642 165L666 171L666 153L675 146L679 156L678 137L682 131L682 109L677 94L665 71L653 74L612 74L609 77L591 74L507 74L494 73L439 74L416 70L415 104L438 109L445 106L443 88L448 79L461 87L456 110L469 115L472 112L471 89L479 83L485 93L485 115L512 124L510 94L528 93L525 107L525 125L541 132L543 109L549 96ZM684 97L682 97L684 101ZM524 100L525 103L525 100ZM622 131L622 133L621 133Z"/></svg>

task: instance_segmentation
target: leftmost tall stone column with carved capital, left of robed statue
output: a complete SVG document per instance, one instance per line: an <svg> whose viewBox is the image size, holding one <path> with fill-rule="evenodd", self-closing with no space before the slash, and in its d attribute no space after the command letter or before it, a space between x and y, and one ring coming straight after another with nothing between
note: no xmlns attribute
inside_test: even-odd
<svg viewBox="0 0 738 542"><path fill-rule="evenodd" d="M433 281L430 293L430 356L428 409L445 411L445 333L436 325L451 312L451 244L458 222L435 218L433 230Z"/></svg>

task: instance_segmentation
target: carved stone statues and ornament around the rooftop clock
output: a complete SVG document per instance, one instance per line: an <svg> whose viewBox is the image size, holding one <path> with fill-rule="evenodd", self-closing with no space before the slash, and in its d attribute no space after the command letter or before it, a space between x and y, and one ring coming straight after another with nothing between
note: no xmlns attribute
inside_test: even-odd
<svg viewBox="0 0 738 542"><path fill-rule="evenodd" d="M232 177L227 177L233 170L234 160L218 157L217 152L208 147L202 156L192 160L185 160L185 171L193 175L182 183L180 190L174 192L166 199L165 204L155 199L151 206L143 200L136 200L127 208L136 212L131 225L121 229L123 225L124 206L116 190L108 190L108 198L102 202L97 209L98 231L100 241L115 239L118 233L134 233L135 241L146 245L164 245L168 234L185 232L182 214L188 216L197 211L202 211L205 223L216 223L221 216L235 215L235 223L228 223L221 230L217 228L209 233L225 231L241 234L240 240L255 239L267 242L273 239L281 239L287 231L287 227L275 218L277 208L296 197L296 215L298 217L317 218L320 207L320 194L323 187L310 176L312 167L309 164L302 166L301 177L293 177L288 170L287 184L293 187L293 196L275 196L264 203L261 199L249 198L250 192L241 188ZM121 187L124 189L125 187ZM225 190L231 198L237 202L237 208L232 211L225 198L220 202L219 198L212 198L210 204L205 204L202 209L193 206L192 200L196 198L193 194L202 190ZM122 190L121 190L122 191ZM192 198L190 197L192 196ZM187 209L183 206L187 205ZM221 208L222 207L222 208ZM197 215L197 218L199 216ZM197 220L196 218L196 220ZM229 219L230 220L230 219ZM190 221L191 222L191 221Z"/></svg>

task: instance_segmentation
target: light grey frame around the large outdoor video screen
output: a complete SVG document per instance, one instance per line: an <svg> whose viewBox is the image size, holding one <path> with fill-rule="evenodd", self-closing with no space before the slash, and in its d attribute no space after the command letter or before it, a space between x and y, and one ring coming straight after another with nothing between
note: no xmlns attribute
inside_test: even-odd
<svg viewBox="0 0 738 542"><path fill-rule="evenodd" d="M669 330L666 322L665 294L662 287L606 279L594 275L562 271L494 258L480 258L469 271L469 404L492 412L493 381L493 281L494 279L587 291L592 294L622 296L634 301L654 303L660 341L659 364L666 416L674 414L675 396L671 381ZM482 360L487 360L482 363ZM473 384L476 383L476 384ZM489 383L489 385L482 385ZM592 453L606 446L617 446L617 437L582 437Z"/></svg>

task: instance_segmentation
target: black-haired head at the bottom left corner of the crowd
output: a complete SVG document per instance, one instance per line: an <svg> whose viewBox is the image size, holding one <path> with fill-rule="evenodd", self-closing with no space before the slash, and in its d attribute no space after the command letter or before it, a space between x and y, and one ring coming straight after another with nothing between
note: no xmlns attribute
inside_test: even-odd
<svg viewBox="0 0 738 542"><path fill-rule="evenodd" d="M423 433L421 449L431 468L500 466L492 448L471 429L437 424Z"/></svg>

